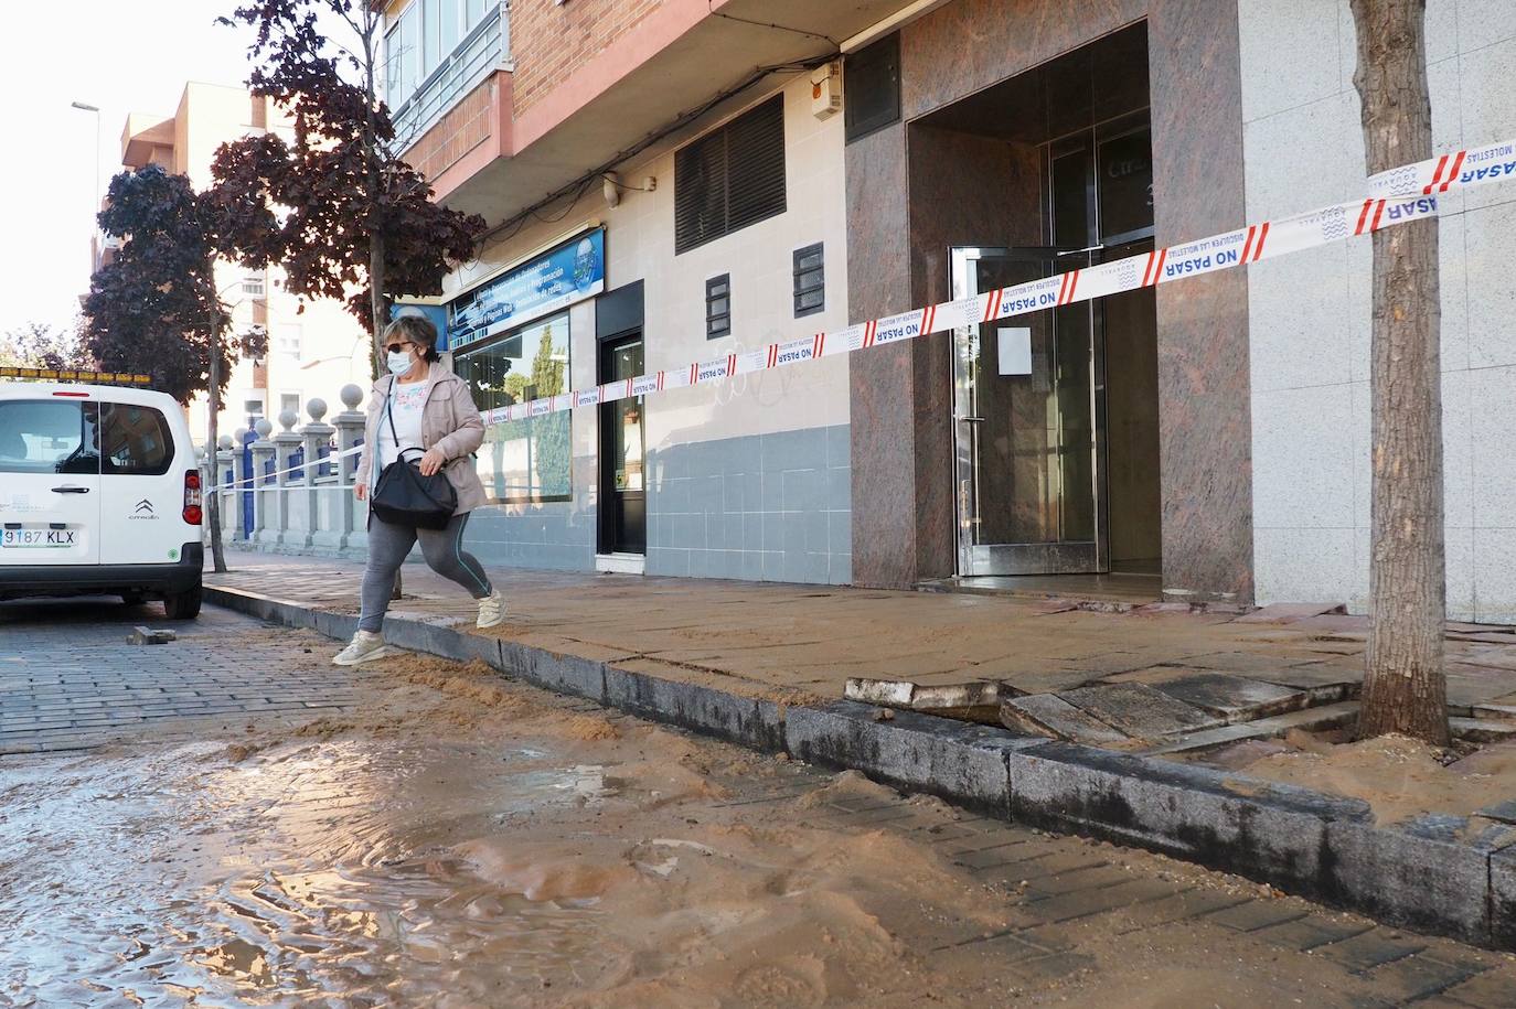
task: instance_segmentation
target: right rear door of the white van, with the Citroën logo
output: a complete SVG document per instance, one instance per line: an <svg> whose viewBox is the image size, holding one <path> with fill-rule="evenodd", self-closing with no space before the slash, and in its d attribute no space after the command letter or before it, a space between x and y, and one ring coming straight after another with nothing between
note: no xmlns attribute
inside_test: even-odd
<svg viewBox="0 0 1516 1009"><path fill-rule="evenodd" d="M156 406L100 403L100 564L174 564L200 538L183 518L194 456L177 442Z"/></svg>

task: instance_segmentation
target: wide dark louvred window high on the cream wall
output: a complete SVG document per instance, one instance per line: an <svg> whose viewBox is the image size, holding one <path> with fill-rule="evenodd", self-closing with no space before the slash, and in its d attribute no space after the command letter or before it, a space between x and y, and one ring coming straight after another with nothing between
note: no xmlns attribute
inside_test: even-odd
<svg viewBox="0 0 1516 1009"><path fill-rule="evenodd" d="M784 95L673 159L675 255L784 214Z"/></svg>

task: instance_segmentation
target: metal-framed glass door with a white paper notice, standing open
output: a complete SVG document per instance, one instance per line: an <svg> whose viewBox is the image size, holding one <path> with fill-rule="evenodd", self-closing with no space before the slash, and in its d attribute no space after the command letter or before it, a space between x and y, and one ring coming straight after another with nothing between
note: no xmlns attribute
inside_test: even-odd
<svg viewBox="0 0 1516 1009"><path fill-rule="evenodd" d="M1087 250L960 247L952 250L954 298L1087 265ZM960 574L1105 570L1095 311L1066 305L955 332Z"/></svg>

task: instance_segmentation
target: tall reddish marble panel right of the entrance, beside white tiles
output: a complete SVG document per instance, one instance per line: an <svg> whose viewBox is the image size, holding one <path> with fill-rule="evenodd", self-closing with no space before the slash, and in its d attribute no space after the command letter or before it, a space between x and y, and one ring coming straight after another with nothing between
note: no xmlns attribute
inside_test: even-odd
<svg viewBox="0 0 1516 1009"><path fill-rule="evenodd" d="M1151 0L1154 211L1160 245L1245 223L1237 8ZM1163 582L1252 601L1248 277L1158 288Z"/></svg>

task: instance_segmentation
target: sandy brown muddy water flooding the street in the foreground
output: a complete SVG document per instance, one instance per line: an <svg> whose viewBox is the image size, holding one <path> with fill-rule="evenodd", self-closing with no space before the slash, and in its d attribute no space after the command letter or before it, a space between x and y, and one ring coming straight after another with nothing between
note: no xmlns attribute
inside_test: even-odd
<svg viewBox="0 0 1516 1009"><path fill-rule="evenodd" d="M805 795L720 804L819 776L390 676L353 723L0 764L0 1003L905 1004L937 982L881 909L1004 926Z"/></svg>

